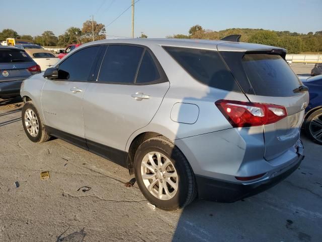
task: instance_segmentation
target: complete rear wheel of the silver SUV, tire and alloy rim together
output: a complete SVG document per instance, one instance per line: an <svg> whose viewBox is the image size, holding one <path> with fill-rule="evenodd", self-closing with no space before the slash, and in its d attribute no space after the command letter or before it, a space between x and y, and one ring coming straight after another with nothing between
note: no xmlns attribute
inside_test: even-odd
<svg viewBox="0 0 322 242"><path fill-rule="evenodd" d="M150 157L154 164L150 162ZM159 163L158 160L162 161ZM134 157L134 173L142 194L157 208L180 209L196 198L196 180L190 164L179 148L164 136L148 139L138 147ZM154 184L155 180L155 185L149 191L149 185ZM160 186L162 190L159 190Z"/></svg>

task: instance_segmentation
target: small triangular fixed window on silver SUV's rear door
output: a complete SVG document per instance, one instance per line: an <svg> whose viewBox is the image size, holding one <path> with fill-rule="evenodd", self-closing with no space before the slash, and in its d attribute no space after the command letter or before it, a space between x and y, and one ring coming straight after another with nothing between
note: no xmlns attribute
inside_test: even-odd
<svg viewBox="0 0 322 242"><path fill-rule="evenodd" d="M160 78L160 74L155 66L149 51L145 50L139 72L135 83L149 83Z"/></svg>

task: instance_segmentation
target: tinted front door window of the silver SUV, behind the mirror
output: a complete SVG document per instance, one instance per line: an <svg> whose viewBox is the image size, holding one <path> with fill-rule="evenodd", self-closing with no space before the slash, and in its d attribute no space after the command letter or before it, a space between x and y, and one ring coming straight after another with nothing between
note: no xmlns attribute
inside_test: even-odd
<svg viewBox="0 0 322 242"><path fill-rule="evenodd" d="M58 67L58 79L88 81L100 46L81 49L65 59Z"/></svg>

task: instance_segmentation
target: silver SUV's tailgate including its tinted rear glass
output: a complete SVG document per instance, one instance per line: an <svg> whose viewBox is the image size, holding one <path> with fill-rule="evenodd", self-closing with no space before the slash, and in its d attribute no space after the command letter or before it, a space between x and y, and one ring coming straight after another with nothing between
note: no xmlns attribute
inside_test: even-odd
<svg viewBox="0 0 322 242"><path fill-rule="evenodd" d="M286 117L263 126L264 158L271 160L286 152L299 139L309 97L307 91L298 90L303 84L283 54L262 50L223 52L222 56L251 102L285 107Z"/></svg>

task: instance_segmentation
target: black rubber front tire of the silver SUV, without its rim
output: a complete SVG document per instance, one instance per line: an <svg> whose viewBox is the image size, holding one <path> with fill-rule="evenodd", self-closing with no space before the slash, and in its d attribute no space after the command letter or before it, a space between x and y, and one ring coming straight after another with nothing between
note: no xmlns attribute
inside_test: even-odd
<svg viewBox="0 0 322 242"><path fill-rule="evenodd" d="M39 126L39 131L38 131L38 134L36 137L33 137L29 134L29 132L27 131L27 127L26 127L26 124L25 124L25 113L26 113L26 110L27 109L31 109L37 116L37 119L38 119L38 126ZM42 143L42 142L46 142L50 139L50 135L47 133L44 125L43 125L43 122L42 122L42 119L39 115L39 112L37 110L37 108L35 107L35 105L33 104L32 101L28 101L25 103L25 105L23 106L22 108L22 113L21 113L21 119L22 119L22 125L24 127L24 130L25 130L25 133L27 135L27 137L32 141L32 142L35 142L35 143Z"/></svg>

